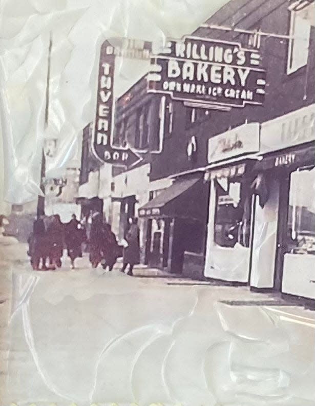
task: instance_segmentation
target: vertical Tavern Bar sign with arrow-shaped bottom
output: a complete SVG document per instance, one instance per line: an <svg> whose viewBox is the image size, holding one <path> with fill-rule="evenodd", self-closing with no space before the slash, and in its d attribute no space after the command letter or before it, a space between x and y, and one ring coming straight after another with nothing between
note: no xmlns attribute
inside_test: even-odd
<svg viewBox="0 0 315 406"><path fill-rule="evenodd" d="M106 40L101 46L92 149L95 156L104 163L128 167L141 159L130 148L113 145L114 69L116 56L149 59L150 52L151 43L122 38Z"/></svg>

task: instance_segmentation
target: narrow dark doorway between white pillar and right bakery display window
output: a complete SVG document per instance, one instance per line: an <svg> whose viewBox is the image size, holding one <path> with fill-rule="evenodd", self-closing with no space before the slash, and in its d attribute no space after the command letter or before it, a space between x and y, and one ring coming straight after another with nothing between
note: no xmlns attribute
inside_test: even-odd
<svg viewBox="0 0 315 406"><path fill-rule="evenodd" d="M281 292L282 275L283 275L283 261L286 252L286 233L288 223L288 208L289 208L289 174L283 173L280 179L280 193L279 193L279 211L278 211L278 232L277 232L277 249L275 261L275 277L274 289Z"/></svg>

